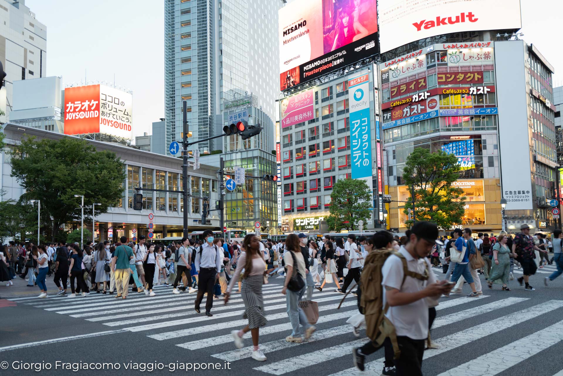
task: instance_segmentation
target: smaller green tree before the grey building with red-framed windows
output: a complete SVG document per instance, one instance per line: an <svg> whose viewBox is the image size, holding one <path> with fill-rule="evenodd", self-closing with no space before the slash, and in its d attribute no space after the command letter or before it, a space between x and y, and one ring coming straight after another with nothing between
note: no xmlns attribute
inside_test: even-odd
<svg viewBox="0 0 563 376"><path fill-rule="evenodd" d="M328 228L332 231L358 228L358 221L367 224L372 215L372 192L368 184L360 179L340 179L330 193L330 215Z"/></svg>

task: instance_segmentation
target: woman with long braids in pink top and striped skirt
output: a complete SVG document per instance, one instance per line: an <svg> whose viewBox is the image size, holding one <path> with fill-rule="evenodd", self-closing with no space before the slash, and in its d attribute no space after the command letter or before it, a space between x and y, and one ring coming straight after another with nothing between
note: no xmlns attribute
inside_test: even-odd
<svg viewBox="0 0 563 376"><path fill-rule="evenodd" d="M264 276L267 273L264 256L260 251L260 237L249 234L244 237L244 251L240 254L236 262L236 270L227 292L225 294L225 304L229 302L231 290L234 284L238 282L240 272L244 269L242 297L244 302L244 317L248 319L248 325L241 330L233 330L231 334L235 341L236 348L243 348L243 335L252 334L252 344L254 345L252 358L259 361L265 361L266 356L258 348L258 337L260 336L260 326L267 323L264 314L264 304L262 299L262 285Z"/></svg>

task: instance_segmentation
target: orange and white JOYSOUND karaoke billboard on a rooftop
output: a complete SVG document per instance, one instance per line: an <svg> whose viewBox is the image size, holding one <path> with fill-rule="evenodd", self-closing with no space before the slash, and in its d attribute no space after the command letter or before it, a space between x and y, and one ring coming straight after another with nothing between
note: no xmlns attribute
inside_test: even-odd
<svg viewBox="0 0 563 376"><path fill-rule="evenodd" d="M132 139L131 94L103 85L67 87L64 100L66 135L102 133Z"/></svg>

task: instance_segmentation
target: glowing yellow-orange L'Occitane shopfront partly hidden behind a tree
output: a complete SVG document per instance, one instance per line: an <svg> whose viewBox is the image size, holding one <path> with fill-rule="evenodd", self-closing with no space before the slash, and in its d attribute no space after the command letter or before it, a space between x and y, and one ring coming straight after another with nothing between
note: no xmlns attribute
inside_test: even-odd
<svg viewBox="0 0 563 376"><path fill-rule="evenodd" d="M470 227L474 232L498 233L502 229L501 222L501 187L499 179L457 180L455 187L463 189L465 200L465 214L462 223L455 227ZM406 230L405 221L408 215L403 213L403 202L409 200L406 185L389 187L391 195L387 223L388 228L398 232Z"/></svg>

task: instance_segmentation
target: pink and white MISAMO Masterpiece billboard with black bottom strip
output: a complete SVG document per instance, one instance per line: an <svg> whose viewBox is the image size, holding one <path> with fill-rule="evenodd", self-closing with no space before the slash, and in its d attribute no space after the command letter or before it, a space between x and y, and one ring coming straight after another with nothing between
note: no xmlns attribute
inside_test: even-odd
<svg viewBox="0 0 563 376"><path fill-rule="evenodd" d="M300 0L279 10L280 90L377 54L376 0Z"/></svg>

